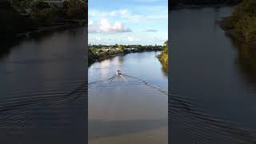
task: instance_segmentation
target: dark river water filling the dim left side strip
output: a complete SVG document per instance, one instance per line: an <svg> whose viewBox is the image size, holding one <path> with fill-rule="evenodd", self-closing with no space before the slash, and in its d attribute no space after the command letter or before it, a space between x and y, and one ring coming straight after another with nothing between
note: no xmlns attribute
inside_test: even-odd
<svg viewBox="0 0 256 144"><path fill-rule="evenodd" d="M24 39L0 59L0 143L86 143L86 29Z"/></svg>

